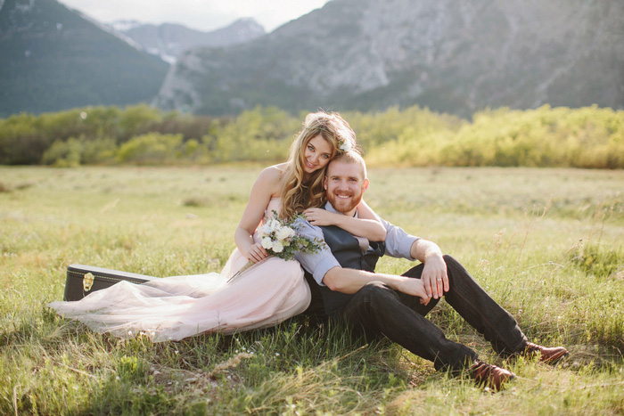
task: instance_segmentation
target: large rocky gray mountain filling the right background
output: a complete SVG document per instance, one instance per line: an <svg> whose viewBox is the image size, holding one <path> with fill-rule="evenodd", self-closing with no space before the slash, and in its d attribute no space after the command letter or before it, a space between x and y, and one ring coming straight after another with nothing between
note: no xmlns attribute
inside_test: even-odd
<svg viewBox="0 0 624 416"><path fill-rule="evenodd" d="M624 2L333 0L247 44L186 51L153 103L209 114L621 109Z"/></svg>

